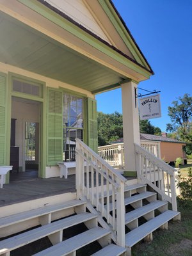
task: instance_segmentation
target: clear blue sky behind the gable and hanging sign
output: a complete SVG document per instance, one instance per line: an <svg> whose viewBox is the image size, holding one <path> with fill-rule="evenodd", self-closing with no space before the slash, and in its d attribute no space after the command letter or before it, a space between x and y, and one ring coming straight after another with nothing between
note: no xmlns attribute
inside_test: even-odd
<svg viewBox="0 0 192 256"><path fill-rule="evenodd" d="M192 96L192 0L113 0L139 45L154 76L139 84L146 90L161 90L162 117L152 125L166 130L168 106L184 93ZM97 110L122 113L121 90L96 96Z"/></svg>

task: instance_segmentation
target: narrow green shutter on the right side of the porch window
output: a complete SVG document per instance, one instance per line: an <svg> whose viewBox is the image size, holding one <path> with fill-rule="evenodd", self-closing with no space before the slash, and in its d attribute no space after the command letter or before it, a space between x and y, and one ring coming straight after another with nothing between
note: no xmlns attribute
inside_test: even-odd
<svg viewBox="0 0 192 256"><path fill-rule="evenodd" d="M97 102L88 98L88 146L97 152Z"/></svg>

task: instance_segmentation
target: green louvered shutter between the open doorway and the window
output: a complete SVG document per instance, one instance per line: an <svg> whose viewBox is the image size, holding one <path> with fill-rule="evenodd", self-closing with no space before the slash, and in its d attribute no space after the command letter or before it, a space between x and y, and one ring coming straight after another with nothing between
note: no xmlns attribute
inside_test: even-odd
<svg viewBox="0 0 192 256"><path fill-rule="evenodd" d="M47 92L47 165L63 161L63 108L62 92Z"/></svg>

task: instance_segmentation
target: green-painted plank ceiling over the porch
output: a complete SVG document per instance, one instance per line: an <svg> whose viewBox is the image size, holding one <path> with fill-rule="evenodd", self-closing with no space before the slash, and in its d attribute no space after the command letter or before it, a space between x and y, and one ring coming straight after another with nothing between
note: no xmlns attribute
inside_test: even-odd
<svg viewBox="0 0 192 256"><path fill-rule="evenodd" d="M0 12L0 61L96 92L126 77Z"/></svg>

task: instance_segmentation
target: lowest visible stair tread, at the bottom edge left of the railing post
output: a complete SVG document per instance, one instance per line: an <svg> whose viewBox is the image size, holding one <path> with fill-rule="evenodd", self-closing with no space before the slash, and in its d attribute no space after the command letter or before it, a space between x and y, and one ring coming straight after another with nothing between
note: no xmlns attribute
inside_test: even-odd
<svg viewBox="0 0 192 256"><path fill-rule="evenodd" d="M124 252L126 252L124 247L116 244L109 244L108 246L99 250L99 252L94 253L92 256L120 256Z"/></svg>

